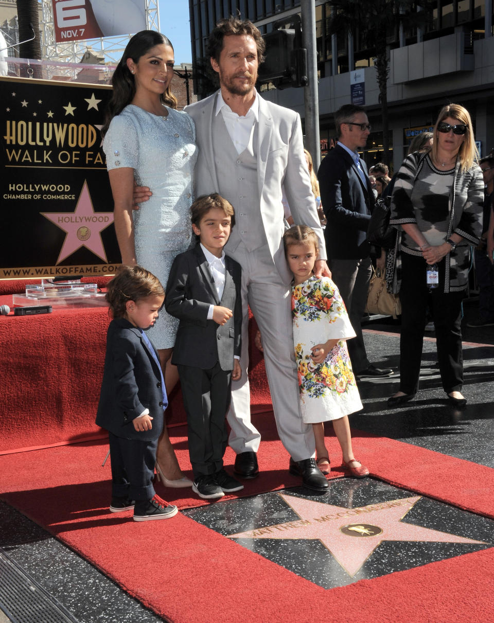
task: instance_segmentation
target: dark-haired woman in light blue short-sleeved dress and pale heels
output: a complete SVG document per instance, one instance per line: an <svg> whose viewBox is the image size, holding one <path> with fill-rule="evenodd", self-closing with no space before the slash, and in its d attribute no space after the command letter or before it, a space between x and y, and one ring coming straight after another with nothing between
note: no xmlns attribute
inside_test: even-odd
<svg viewBox="0 0 494 623"><path fill-rule="evenodd" d="M133 36L113 74L102 130L122 263L140 264L163 286L176 255L192 244L189 207L197 158L194 122L175 110L177 100L169 88L173 65L167 37L154 31ZM153 194L133 211L134 181ZM158 349L168 395L177 379L169 363L177 328L176 318L163 309L147 332ZM166 427L156 456L158 475L167 486L192 485L180 471Z"/></svg>

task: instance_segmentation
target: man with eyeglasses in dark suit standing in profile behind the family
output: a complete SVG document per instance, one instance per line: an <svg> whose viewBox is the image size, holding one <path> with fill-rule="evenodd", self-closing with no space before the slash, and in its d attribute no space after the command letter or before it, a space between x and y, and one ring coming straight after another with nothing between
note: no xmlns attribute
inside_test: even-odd
<svg viewBox="0 0 494 623"><path fill-rule="evenodd" d="M338 145L323 159L317 174L328 221L328 263L356 333L353 340L348 340L354 372L359 379L382 378L391 376L392 369L376 368L369 363L361 329L371 278L371 249L366 235L374 193L366 163L359 158L358 151L365 147L371 126L364 108L353 104L346 104L335 113L335 125Z"/></svg>

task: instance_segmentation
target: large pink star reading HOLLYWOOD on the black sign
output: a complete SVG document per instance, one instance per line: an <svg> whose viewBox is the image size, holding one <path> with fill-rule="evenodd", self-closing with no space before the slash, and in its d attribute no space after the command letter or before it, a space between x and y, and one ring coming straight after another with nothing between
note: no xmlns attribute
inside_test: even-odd
<svg viewBox="0 0 494 623"><path fill-rule="evenodd" d="M113 212L94 211L86 181L75 206L75 212L41 212L41 214L67 233L57 264L80 247L86 247L107 262L101 232L113 223Z"/></svg>

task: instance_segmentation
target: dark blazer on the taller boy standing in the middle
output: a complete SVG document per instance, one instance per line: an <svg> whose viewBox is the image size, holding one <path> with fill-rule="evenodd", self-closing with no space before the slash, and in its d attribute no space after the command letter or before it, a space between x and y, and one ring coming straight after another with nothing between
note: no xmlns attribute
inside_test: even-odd
<svg viewBox="0 0 494 623"><path fill-rule="evenodd" d="M174 259L164 297L166 311L180 320L171 363L211 369L219 361L222 370L233 369L234 355L240 355L242 269L228 255L225 265L225 288L219 301L199 244ZM228 307L232 318L225 325L207 320L209 305Z"/></svg>

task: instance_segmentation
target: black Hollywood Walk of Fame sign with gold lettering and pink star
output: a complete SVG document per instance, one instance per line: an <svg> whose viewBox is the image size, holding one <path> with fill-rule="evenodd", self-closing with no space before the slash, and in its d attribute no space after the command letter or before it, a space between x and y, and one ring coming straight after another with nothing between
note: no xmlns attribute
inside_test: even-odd
<svg viewBox="0 0 494 623"><path fill-rule="evenodd" d="M0 278L115 272L101 128L112 90L0 78Z"/></svg>

